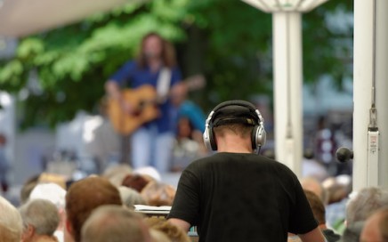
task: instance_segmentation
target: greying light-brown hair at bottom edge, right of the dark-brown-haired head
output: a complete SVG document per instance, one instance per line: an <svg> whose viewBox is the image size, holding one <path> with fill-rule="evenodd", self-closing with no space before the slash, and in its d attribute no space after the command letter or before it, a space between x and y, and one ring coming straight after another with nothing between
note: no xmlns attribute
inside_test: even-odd
<svg viewBox="0 0 388 242"><path fill-rule="evenodd" d="M150 231L140 214L123 206L100 206L86 220L82 228L83 242L146 242Z"/></svg>

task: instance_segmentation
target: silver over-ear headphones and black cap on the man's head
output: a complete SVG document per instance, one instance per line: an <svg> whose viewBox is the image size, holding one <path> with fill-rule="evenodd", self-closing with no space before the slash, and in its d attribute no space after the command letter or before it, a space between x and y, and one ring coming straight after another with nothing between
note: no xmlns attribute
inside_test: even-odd
<svg viewBox="0 0 388 242"><path fill-rule="evenodd" d="M216 120L220 115L229 114L229 117L223 120ZM238 117L234 117L238 115ZM204 143L208 150L217 150L217 144L214 138L213 128L214 123L243 123L251 124L254 128L252 130L252 149L255 149L257 152L265 144L266 133L264 129L264 119L262 114L255 106L248 101L224 101L217 105L206 118L205 132L203 134ZM215 122L214 122L215 121Z"/></svg>

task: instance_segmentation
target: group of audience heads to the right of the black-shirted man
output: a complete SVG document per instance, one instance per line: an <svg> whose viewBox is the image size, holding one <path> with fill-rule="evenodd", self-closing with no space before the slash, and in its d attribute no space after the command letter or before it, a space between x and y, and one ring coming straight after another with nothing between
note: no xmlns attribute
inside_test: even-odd
<svg viewBox="0 0 388 242"><path fill-rule="evenodd" d="M301 185L319 228L325 236L327 230L334 232L328 242L388 242L388 190L368 187L352 191L347 175L324 181L307 177L301 179ZM335 215L335 222L328 221L330 214ZM289 241L299 241L295 239Z"/></svg>

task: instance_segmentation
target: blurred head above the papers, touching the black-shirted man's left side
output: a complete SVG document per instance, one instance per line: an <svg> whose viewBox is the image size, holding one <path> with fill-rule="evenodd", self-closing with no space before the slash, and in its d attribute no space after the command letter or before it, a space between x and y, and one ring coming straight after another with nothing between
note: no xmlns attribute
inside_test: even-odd
<svg viewBox="0 0 388 242"><path fill-rule="evenodd" d="M141 190L141 197L144 198L149 206L172 206L175 192L176 190L171 185L150 181Z"/></svg>

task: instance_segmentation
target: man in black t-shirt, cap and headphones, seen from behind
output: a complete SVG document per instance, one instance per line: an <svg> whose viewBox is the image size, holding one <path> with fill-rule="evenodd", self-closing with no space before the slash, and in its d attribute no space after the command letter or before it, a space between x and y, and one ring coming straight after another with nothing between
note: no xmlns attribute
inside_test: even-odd
<svg viewBox="0 0 388 242"><path fill-rule="evenodd" d="M323 242L303 189L286 165L257 155L263 117L247 101L225 101L206 119L204 142L218 152L182 173L169 221L199 241L285 242L287 232Z"/></svg>

